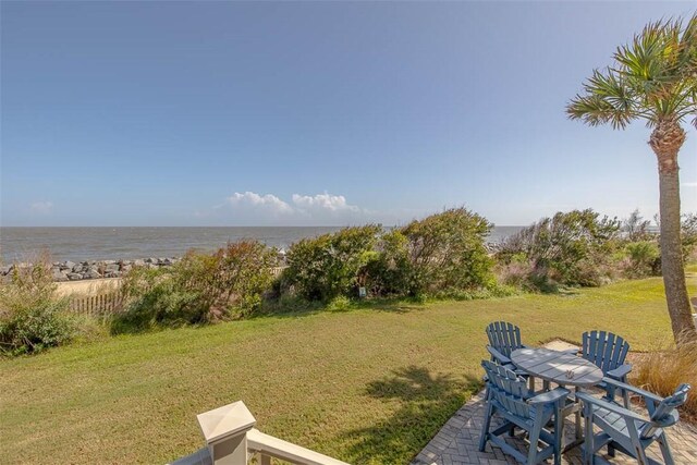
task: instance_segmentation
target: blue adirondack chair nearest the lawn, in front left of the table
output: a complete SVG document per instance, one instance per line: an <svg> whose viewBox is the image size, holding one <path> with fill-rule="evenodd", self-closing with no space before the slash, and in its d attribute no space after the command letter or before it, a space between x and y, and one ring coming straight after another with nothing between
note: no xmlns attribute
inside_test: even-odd
<svg viewBox="0 0 697 465"><path fill-rule="evenodd" d="M487 442L491 441L527 465L538 464L550 456L554 465L561 463L562 424L561 411L565 404L568 390L557 388L542 394L527 389L525 379L509 368L490 360L482 360L481 366L487 379L487 404L479 438L479 451L484 452ZM493 431L489 431L491 417L499 414L504 423ZM550 421L551 420L551 421ZM546 425L552 425L550 430ZM502 435L512 433L515 428L529 433L530 446L527 456L505 442ZM538 443L541 442L541 449Z"/></svg>

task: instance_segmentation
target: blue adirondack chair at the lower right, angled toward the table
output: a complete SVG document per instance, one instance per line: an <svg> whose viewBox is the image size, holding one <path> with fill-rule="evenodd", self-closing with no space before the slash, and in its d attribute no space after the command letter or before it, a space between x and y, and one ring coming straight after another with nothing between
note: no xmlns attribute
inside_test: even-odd
<svg viewBox="0 0 697 465"><path fill-rule="evenodd" d="M668 445L665 428L677 423L678 406L687 400L689 384L681 384L675 392L662 399L656 394L644 391L623 382L606 378L609 386L632 391L646 402L649 418L624 408L614 402L594 397L584 392L576 393L576 397L583 403L584 417L586 419L584 445L584 463L591 465L596 458L596 452L603 445L608 446L608 454L614 456L615 451L621 451L637 460L640 464L653 464L653 460L646 456L646 448L655 441L661 448L661 454L665 465L673 465L673 456ZM594 435L594 425L600 428L600 432Z"/></svg>

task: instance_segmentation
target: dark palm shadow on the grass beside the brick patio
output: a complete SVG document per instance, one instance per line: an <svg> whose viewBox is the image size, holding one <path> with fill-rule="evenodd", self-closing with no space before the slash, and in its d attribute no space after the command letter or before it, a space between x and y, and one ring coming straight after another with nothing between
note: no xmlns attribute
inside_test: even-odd
<svg viewBox="0 0 697 465"><path fill-rule="evenodd" d="M431 440L448 419L481 388L467 376L431 375L424 367L408 366L366 387L366 393L400 407L389 418L346 432L345 451L351 463L408 463Z"/></svg>

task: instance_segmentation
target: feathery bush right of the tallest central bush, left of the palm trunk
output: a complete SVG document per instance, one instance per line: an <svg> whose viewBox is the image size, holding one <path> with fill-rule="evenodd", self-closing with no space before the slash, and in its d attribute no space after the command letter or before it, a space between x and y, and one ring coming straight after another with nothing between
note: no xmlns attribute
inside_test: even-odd
<svg viewBox="0 0 697 465"><path fill-rule="evenodd" d="M617 220L590 209L558 212L509 237L497 258L512 284L524 281L543 291L559 284L599 285L612 276L619 231Z"/></svg>

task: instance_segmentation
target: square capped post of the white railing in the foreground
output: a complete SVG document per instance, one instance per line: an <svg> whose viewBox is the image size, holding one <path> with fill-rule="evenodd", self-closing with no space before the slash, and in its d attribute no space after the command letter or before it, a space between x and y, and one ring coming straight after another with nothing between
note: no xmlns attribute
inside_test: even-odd
<svg viewBox="0 0 697 465"><path fill-rule="evenodd" d="M213 465L246 465L247 431L256 419L239 401L196 416Z"/></svg>

